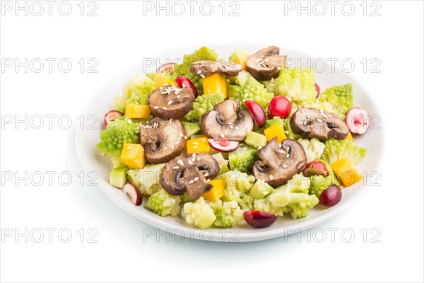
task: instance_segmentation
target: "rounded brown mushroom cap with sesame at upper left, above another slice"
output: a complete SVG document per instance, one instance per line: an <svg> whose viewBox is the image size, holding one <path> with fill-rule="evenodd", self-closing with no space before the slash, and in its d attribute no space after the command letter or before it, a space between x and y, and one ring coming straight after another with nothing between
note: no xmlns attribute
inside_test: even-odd
<svg viewBox="0 0 424 283"><path fill-rule="evenodd" d="M153 115L169 120L186 115L195 100L192 89L166 85L156 88L149 96L147 104Z"/></svg>

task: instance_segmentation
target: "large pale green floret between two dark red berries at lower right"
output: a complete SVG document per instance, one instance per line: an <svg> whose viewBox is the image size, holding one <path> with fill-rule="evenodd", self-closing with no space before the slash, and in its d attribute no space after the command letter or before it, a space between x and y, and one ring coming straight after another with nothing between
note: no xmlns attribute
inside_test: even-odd
<svg viewBox="0 0 424 283"><path fill-rule="evenodd" d="M309 215L318 204L316 195L309 195L310 180L302 174L295 175L287 184L277 187L268 197L254 201L254 209L271 212L278 216L290 213L293 219Z"/></svg>

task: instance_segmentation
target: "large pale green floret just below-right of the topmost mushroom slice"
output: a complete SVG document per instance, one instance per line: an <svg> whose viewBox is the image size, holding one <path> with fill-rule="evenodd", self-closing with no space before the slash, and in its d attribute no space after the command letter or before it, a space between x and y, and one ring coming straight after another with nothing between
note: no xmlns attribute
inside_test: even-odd
<svg viewBox="0 0 424 283"><path fill-rule="evenodd" d="M293 108L310 106L317 101L315 71L309 67L282 67L277 79L265 84L268 91L288 97Z"/></svg>

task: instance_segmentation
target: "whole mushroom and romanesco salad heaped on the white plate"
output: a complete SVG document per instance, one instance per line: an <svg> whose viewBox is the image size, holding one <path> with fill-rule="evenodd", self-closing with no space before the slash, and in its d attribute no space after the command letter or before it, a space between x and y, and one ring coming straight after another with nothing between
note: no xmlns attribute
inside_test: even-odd
<svg viewBox="0 0 424 283"><path fill-rule="evenodd" d="M352 83L322 91L313 69L286 59L275 46L228 59L201 47L134 76L97 144L110 156L110 185L199 229L261 228L338 204L362 180L355 167L367 149L354 137L370 117Z"/></svg>

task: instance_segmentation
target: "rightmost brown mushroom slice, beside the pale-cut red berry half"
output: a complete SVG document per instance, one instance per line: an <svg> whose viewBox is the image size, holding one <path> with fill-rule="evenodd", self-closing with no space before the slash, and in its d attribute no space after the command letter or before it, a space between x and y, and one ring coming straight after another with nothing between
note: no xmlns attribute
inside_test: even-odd
<svg viewBox="0 0 424 283"><path fill-rule="evenodd" d="M290 119L293 132L310 139L346 139L349 129L337 115L316 108L299 108Z"/></svg>

